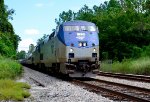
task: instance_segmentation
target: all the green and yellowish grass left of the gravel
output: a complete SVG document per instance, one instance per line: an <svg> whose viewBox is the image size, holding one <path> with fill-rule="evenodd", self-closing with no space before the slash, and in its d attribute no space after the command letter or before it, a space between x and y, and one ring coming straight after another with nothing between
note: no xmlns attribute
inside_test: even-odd
<svg viewBox="0 0 150 102"><path fill-rule="evenodd" d="M30 96L26 90L29 85L14 81L21 73L22 66L17 61L0 56L0 101L22 101Z"/></svg>

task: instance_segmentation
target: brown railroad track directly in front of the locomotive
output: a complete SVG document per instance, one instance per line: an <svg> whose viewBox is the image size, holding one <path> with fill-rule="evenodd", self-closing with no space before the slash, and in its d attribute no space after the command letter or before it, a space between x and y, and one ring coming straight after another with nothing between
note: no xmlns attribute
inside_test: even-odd
<svg viewBox="0 0 150 102"><path fill-rule="evenodd" d="M88 81L73 80L72 83L84 86L89 91L109 97L115 101L150 102L150 89L99 79L90 79Z"/></svg>

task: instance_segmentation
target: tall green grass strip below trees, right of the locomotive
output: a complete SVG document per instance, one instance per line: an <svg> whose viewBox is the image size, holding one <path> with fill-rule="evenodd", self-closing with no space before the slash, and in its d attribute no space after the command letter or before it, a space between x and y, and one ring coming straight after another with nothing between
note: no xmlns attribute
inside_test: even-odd
<svg viewBox="0 0 150 102"><path fill-rule="evenodd" d="M150 75L150 58L142 57L136 60L129 59L112 64L102 62L100 70L104 72Z"/></svg>

